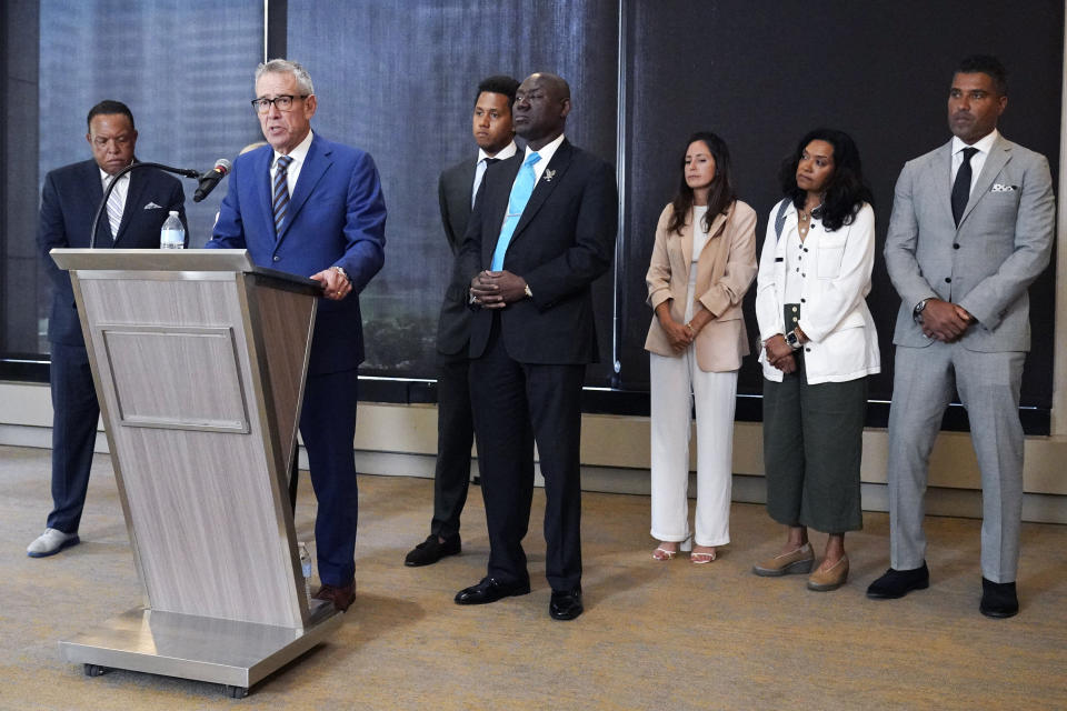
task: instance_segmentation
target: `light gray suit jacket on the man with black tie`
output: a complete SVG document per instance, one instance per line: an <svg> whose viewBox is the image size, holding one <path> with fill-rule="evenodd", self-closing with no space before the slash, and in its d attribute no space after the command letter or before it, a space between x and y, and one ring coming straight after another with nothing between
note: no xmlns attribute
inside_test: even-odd
<svg viewBox="0 0 1067 711"><path fill-rule="evenodd" d="M908 161L897 180L886 236L886 267L901 299L893 342L929 346L911 311L937 298L978 320L960 339L964 348L1028 351L1026 290L1048 266L1055 233L1048 161L998 137L958 228L951 189L951 141Z"/></svg>

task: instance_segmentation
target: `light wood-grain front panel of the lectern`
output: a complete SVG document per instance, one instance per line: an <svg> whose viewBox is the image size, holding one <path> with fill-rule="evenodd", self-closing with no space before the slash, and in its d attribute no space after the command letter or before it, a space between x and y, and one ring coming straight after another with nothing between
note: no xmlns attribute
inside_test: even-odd
<svg viewBox="0 0 1067 711"><path fill-rule="evenodd" d="M151 608L301 627L285 444L269 431L273 378L247 337L261 327L245 274L79 276ZM305 322L295 313L291 328L307 333L313 298L301 300ZM292 419L295 407L287 411Z"/></svg>

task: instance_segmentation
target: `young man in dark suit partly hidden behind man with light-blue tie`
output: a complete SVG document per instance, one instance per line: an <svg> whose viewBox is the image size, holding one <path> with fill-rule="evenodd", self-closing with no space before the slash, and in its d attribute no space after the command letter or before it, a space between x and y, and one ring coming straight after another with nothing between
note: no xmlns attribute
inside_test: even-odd
<svg viewBox="0 0 1067 711"><path fill-rule="evenodd" d="M471 128L478 158L446 169L438 182L441 223L455 256L486 169L516 153L511 104L519 82L511 77L489 77L478 84ZM459 553L459 517L470 484L470 444L475 422L470 411L467 357L470 310L466 282L451 282L441 303L437 328L437 468L433 471L433 518L430 534L403 559L406 565L429 565Z"/></svg>

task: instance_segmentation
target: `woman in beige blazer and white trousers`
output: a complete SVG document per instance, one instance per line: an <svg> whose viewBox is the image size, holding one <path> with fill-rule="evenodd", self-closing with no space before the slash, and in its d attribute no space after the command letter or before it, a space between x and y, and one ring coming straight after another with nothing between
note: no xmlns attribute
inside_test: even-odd
<svg viewBox="0 0 1067 711"><path fill-rule="evenodd" d="M737 200L730 153L715 133L690 137L678 193L664 208L648 267L656 311L645 349L651 380L651 534L656 560L679 547L694 563L730 542L737 370L748 354L741 299L756 276L756 212ZM697 510L689 529L690 413L697 417Z"/></svg>

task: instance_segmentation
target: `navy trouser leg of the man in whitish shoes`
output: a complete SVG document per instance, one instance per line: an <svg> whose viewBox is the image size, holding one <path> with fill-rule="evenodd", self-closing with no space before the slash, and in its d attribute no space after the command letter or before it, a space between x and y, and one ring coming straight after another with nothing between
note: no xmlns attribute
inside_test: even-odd
<svg viewBox="0 0 1067 711"><path fill-rule="evenodd" d="M92 468L100 405L83 346L52 343L52 512L48 528L74 533Z"/></svg>

